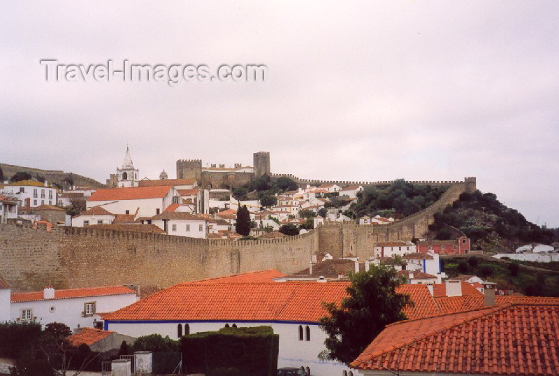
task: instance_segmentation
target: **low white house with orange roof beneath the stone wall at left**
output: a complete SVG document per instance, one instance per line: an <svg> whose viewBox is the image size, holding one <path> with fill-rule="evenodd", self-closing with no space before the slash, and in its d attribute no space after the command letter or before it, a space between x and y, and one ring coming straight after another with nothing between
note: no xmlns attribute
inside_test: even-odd
<svg viewBox="0 0 559 376"><path fill-rule="evenodd" d="M125 286L63 290L45 287L43 291L12 293L10 320L37 321L42 325L56 321L71 329L93 328L101 319L99 314L119 310L136 301L136 291Z"/></svg>

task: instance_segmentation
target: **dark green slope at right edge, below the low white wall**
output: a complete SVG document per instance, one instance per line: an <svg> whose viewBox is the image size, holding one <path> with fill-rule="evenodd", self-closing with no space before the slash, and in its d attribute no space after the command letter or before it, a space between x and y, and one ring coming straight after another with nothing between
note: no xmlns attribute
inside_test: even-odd
<svg viewBox="0 0 559 376"><path fill-rule="evenodd" d="M551 270L534 270L517 261L506 263L476 256L467 259L452 257L442 260L442 264L444 273L449 277L477 275L497 283L498 289L511 289L528 296L559 296L559 274Z"/></svg>

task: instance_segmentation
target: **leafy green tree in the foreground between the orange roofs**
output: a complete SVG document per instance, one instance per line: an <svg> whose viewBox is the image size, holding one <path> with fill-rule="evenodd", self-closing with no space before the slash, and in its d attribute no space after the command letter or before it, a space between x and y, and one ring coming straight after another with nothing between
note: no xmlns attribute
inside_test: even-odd
<svg viewBox="0 0 559 376"><path fill-rule="evenodd" d="M405 320L402 309L413 305L409 295L397 294L402 280L394 268L371 265L368 272L350 273L351 286L340 307L324 303L328 311L319 319L326 332L326 350L319 357L349 364L388 324Z"/></svg>

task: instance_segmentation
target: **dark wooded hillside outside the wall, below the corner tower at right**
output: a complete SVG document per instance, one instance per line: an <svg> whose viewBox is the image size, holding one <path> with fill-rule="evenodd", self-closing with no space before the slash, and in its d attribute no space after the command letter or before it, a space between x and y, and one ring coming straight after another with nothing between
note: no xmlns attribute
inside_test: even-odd
<svg viewBox="0 0 559 376"><path fill-rule="evenodd" d="M510 252L526 243L552 244L558 240L555 230L528 222L517 210L507 208L492 193L460 194L458 201L435 214L429 226L437 239L452 237L452 227L472 240L473 250L486 253Z"/></svg>

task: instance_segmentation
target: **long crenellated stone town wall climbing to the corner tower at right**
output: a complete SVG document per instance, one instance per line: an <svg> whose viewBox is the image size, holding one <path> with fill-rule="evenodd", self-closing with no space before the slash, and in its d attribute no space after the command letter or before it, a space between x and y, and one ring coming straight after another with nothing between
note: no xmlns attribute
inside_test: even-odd
<svg viewBox="0 0 559 376"><path fill-rule="evenodd" d="M469 180L468 180L469 179ZM472 180L473 179L473 180ZM208 240L152 233L43 225L0 225L0 275L13 291L140 284L168 287L187 280L273 268L293 273L311 255L354 254L362 260L378 242L421 236L433 215L475 189L458 182L429 208L383 226L326 224L303 235L262 240Z"/></svg>

